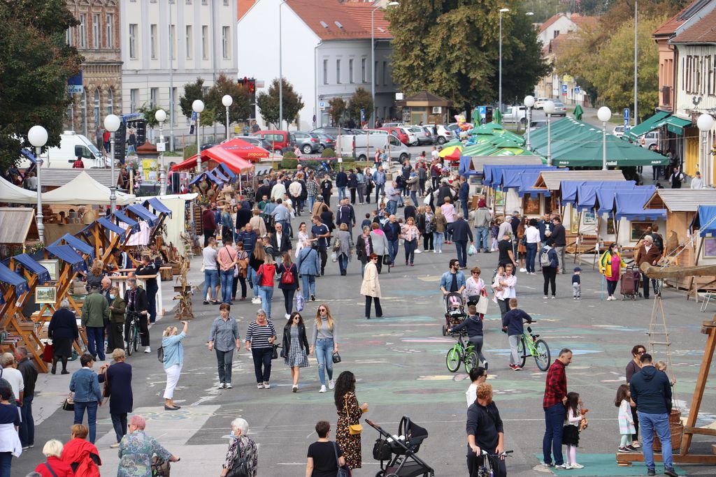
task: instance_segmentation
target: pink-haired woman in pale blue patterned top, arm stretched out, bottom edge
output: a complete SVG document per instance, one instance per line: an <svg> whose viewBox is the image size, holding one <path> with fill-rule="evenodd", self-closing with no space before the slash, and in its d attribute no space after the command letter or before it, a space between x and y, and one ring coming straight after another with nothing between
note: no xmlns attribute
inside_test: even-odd
<svg viewBox="0 0 716 477"><path fill-rule="evenodd" d="M152 436L147 436L147 421L141 415L132 415L129 433L120 442L120 465L117 477L152 477L152 456L163 461L179 462L180 458L167 451Z"/></svg>

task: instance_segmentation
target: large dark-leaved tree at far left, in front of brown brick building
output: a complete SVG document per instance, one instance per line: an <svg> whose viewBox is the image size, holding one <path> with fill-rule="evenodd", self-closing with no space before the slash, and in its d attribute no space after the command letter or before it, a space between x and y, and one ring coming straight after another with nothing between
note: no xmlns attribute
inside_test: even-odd
<svg viewBox="0 0 716 477"><path fill-rule="evenodd" d="M19 5L21 3L21 5ZM67 46L65 32L77 21L64 0L0 2L0 169L29 147L27 132L41 124L46 147L59 145L71 103L67 79L79 72L82 56Z"/></svg>

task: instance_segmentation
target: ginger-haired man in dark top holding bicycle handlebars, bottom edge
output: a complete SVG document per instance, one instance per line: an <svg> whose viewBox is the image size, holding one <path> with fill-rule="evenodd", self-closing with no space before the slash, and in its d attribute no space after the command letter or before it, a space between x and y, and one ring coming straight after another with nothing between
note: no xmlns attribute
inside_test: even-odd
<svg viewBox="0 0 716 477"><path fill-rule="evenodd" d="M493 403L492 386L480 383L477 400L468 408L468 471L470 477L480 476L480 468L490 463L495 477L506 477L505 432L500 411ZM488 453L483 455L483 451ZM487 473L489 475L489 473Z"/></svg>

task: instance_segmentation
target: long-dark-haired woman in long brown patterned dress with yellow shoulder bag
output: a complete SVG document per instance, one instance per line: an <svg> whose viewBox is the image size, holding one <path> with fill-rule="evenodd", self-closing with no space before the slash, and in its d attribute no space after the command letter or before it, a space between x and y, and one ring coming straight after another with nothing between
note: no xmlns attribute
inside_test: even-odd
<svg viewBox="0 0 716 477"><path fill-rule="evenodd" d="M355 395L356 378L350 371L344 371L336 380L334 400L338 412L336 442L343 451L348 468L361 468L360 434L351 434L348 426L360 423L363 413L368 411L368 403L358 405Z"/></svg>

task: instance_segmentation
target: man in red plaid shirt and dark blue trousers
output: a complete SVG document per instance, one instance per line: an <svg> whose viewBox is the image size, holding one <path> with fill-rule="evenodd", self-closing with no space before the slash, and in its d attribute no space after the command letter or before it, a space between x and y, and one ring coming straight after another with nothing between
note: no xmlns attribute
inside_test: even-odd
<svg viewBox="0 0 716 477"><path fill-rule="evenodd" d="M562 459L562 426L566 410L564 403L567 400L567 374L566 367L572 361L572 352L563 348L559 352L559 358L547 371L547 379L544 387L544 408L545 431L542 440L542 452L544 453L544 466L551 467L554 454L554 466L558 469L567 468Z"/></svg>

